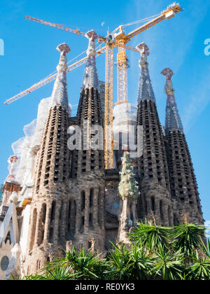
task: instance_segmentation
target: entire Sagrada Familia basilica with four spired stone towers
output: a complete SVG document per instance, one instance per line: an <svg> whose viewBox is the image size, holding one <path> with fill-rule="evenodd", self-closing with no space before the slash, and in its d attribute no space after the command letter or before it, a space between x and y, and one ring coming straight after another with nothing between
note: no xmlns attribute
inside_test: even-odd
<svg viewBox="0 0 210 294"><path fill-rule="evenodd" d="M110 241L125 241L134 223L151 214L158 225L182 223L183 213L193 223L204 223L174 97L174 73L169 68L162 71L167 95L162 127L145 43L137 46L141 54L137 107L128 103L113 111L113 132L122 135L129 125L142 127L141 156L130 156L130 146L123 151L119 139L114 168L105 169L103 148L85 148L82 143L81 148L69 149L69 137L77 128L80 141L85 142L92 141L92 127L104 127L94 50L97 34L88 31L86 37L87 63L77 115L71 116L66 83L70 48L62 43L57 47L60 57L52 95L41 100L36 120L25 126L25 137L13 144L15 155L9 158L0 209L0 279L14 270L19 276L34 274L71 246L106 254Z"/></svg>

